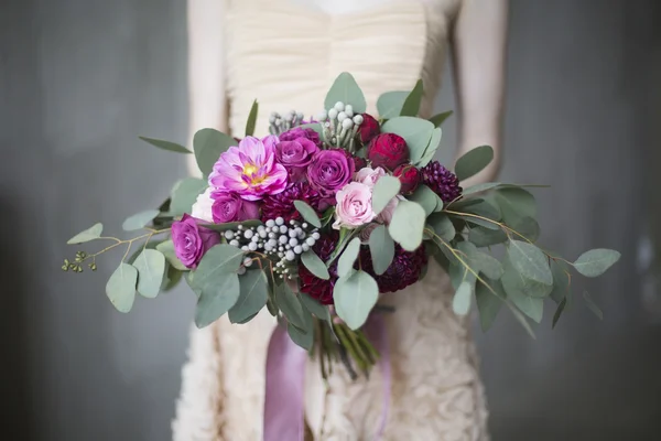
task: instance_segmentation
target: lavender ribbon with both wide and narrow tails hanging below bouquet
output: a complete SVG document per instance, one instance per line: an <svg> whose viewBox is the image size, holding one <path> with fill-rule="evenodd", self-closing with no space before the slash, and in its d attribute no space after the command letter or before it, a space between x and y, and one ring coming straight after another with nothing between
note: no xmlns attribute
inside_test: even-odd
<svg viewBox="0 0 661 441"><path fill-rule="evenodd" d="M386 430L390 411L390 349L383 315L371 314L365 326L366 333L380 354L382 376L381 419L375 434L379 441ZM288 335L279 324L271 334L267 353L267 391L264 398L264 441L304 440L304 386L307 353Z"/></svg>

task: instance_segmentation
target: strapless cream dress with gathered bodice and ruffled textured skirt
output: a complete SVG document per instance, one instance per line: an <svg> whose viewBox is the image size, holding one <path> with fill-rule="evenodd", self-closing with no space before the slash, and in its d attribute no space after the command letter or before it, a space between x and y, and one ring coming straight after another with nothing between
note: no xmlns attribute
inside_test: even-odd
<svg viewBox="0 0 661 441"><path fill-rule="evenodd" d="M227 34L230 130L242 135L254 98L260 104L258 135L266 135L273 110L316 115L344 71L356 77L372 114L381 93L411 89L422 77L421 115L429 116L460 1L380 1L340 14L288 0L227 2L218 21ZM488 439L470 321L453 313L452 292L446 275L431 261L422 282L386 298L397 312L387 319L392 389L382 439ZM248 325L231 325L224 316L192 331L175 440L261 440L273 326L264 310ZM311 359L305 381L305 419L315 440L375 439L382 410L378 368L369 380L357 381L335 368L326 386Z"/></svg>

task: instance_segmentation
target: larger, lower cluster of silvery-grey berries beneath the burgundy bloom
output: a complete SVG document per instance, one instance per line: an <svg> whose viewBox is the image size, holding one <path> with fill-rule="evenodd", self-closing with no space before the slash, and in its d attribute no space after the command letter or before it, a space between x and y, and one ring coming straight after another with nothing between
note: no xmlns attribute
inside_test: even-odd
<svg viewBox="0 0 661 441"><path fill-rule="evenodd" d="M228 244L246 252L258 251L275 260L273 272L284 278L289 275L289 267L300 255L310 250L319 239L317 228L311 228L307 223L290 220L282 217L269 219L264 225L245 228L242 225L237 230L225 232ZM251 258L243 260L243 267L252 263Z"/></svg>

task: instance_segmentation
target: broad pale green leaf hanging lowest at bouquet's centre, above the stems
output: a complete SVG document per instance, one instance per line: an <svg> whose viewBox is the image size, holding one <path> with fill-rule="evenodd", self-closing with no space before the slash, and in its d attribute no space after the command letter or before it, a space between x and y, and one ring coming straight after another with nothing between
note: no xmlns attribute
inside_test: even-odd
<svg viewBox="0 0 661 441"><path fill-rule="evenodd" d="M351 330L362 326L379 299L379 287L370 275L354 271L335 283L333 299L337 315Z"/></svg>

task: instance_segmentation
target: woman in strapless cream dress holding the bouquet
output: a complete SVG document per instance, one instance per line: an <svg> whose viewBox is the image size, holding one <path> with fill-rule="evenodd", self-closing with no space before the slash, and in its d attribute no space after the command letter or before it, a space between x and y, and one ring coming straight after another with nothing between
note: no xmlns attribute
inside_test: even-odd
<svg viewBox="0 0 661 441"><path fill-rule="evenodd" d="M453 50L460 146L490 144L498 171L506 0L188 0L191 129L242 136L253 99L257 135L271 111L322 110L340 72L361 86L368 112L387 90L423 79L421 117L431 116L448 47ZM261 131L260 131L261 130ZM470 323L452 312L449 281L430 263L422 282L390 294L391 397L387 440L487 440L487 411ZM273 319L248 325L226 318L192 331L174 439L262 438L264 365ZM351 381L336 368L324 384L307 363L307 439L372 440L382 411L381 373ZM283 440L300 441L300 440Z"/></svg>

